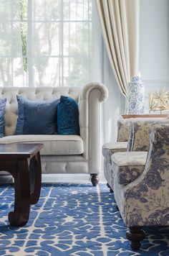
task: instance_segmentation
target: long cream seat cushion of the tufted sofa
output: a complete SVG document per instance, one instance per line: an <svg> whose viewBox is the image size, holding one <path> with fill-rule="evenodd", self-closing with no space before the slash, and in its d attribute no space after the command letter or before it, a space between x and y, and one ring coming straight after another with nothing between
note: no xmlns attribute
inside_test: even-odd
<svg viewBox="0 0 169 256"><path fill-rule="evenodd" d="M81 155L83 141L79 135L14 135L0 139L1 143L42 143L41 155Z"/></svg>

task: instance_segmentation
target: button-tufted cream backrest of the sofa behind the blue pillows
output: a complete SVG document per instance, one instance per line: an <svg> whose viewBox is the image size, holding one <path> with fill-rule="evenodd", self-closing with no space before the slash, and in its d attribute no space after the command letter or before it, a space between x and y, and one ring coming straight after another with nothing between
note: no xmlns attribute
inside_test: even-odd
<svg viewBox="0 0 169 256"><path fill-rule="evenodd" d="M14 135L17 121L18 104L16 95L19 94L32 101L59 98L61 95L79 101L80 87L0 87L0 99L6 98L5 134Z"/></svg>

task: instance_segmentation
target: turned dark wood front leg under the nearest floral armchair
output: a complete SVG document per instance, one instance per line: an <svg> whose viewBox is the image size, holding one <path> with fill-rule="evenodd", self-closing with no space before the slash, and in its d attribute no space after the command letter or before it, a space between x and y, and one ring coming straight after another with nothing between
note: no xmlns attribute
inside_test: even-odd
<svg viewBox="0 0 169 256"><path fill-rule="evenodd" d="M141 241L145 237L145 232L142 227L129 227L126 232L126 237L130 240L132 250L139 250L141 246Z"/></svg>

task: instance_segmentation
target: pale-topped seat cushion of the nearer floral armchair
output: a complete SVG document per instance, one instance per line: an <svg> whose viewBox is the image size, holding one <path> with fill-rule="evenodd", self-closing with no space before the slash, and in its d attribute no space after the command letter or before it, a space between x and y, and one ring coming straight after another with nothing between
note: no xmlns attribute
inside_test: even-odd
<svg viewBox="0 0 169 256"><path fill-rule="evenodd" d="M126 185L138 178L145 168L148 152L117 152L112 155L113 175Z"/></svg>

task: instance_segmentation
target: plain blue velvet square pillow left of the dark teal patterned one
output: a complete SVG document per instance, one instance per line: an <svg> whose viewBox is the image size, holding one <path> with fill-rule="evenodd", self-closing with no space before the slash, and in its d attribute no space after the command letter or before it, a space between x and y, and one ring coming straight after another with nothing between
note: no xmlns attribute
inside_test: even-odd
<svg viewBox="0 0 169 256"><path fill-rule="evenodd" d="M59 99L30 101L16 96L18 119L15 134L56 134Z"/></svg>

